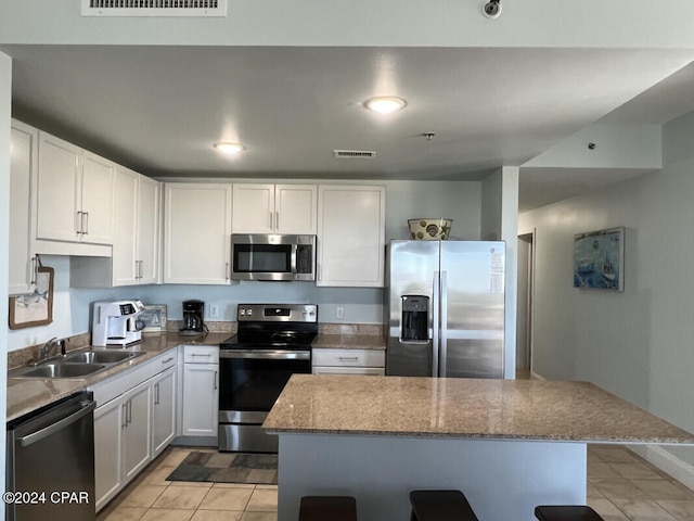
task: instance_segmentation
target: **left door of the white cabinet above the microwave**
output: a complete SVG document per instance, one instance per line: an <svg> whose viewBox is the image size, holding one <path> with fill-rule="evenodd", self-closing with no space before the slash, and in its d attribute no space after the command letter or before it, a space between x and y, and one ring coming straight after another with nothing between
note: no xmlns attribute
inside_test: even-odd
<svg viewBox="0 0 694 521"><path fill-rule="evenodd" d="M274 185L234 185L233 233L273 233L274 219Z"/></svg>

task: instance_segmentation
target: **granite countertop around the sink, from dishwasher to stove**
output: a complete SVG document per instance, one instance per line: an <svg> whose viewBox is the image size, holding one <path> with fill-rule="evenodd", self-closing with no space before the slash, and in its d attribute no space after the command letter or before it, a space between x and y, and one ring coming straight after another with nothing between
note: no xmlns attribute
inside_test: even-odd
<svg viewBox="0 0 694 521"><path fill-rule="evenodd" d="M78 391L85 391L97 382L127 371L131 367L143 364L162 353L176 348L180 344L218 345L227 340L229 335L229 332L207 333L202 336L181 336L178 333L145 333L142 335L142 342L128 346L127 350L144 351L146 355L119 364L93 377L82 379L8 378L7 419L8 421L13 420ZM89 348L89 346L81 350L86 348Z"/></svg>

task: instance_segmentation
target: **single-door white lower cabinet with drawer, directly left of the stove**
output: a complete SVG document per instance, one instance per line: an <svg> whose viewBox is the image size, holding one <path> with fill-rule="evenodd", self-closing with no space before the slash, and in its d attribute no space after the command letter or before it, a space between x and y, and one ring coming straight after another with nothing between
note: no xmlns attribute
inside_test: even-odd
<svg viewBox="0 0 694 521"><path fill-rule="evenodd" d="M183 346L181 434L217 437L219 347Z"/></svg>

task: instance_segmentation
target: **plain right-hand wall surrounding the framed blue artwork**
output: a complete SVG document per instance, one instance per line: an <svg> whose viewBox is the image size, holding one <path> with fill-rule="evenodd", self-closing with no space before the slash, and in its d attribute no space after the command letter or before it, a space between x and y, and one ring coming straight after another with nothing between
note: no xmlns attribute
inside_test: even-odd
<svg viewBox="0 0 694 521"><path fill-rule="evenodd" d="M535 371L592 381L689 431L693 136L689 114L664 127L661 170L519 219L519 229L537 229ZM574 233L617 226L626 227L624 293L573 288ZM694 448L668 450L689 473L682 479L694 484Z"/></svg>

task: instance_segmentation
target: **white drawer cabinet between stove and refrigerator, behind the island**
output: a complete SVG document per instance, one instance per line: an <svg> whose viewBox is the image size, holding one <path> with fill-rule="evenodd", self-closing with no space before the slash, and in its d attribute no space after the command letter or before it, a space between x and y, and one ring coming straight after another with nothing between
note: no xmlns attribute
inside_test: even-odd
<svg viewBox="0 0 694 521"><path fill-rule="evenodd" d="M385 351L313 348L313 374L385 374Z"/></svg>

